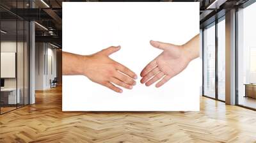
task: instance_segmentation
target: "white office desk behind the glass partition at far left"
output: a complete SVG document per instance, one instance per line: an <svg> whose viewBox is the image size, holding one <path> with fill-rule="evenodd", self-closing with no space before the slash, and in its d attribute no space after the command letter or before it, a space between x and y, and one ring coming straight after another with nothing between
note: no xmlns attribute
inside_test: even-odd
<svg viewBox="0 0 256 143"><path fill-rule="evenodd" d="M16 98L16 88L4 88L1 89L1 102L4 104L16 104L20 103L20 89L17 88L18 94Z"/></svg>

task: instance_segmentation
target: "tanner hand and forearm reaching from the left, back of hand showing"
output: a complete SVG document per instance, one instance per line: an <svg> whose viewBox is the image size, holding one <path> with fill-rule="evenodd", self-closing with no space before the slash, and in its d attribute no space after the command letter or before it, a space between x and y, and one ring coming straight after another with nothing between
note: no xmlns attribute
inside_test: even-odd
<svg viewBox="0 0 256 143"><path fill-rule="evenodd" d="M136 84L137 75L124 65L109 58L120 50L118 47L108 47L90 56L81 56L63 52L63 75L84 75L97 84L122 93L120 87L132 89ZM120 87L117 87L117 86Z"/></svg>

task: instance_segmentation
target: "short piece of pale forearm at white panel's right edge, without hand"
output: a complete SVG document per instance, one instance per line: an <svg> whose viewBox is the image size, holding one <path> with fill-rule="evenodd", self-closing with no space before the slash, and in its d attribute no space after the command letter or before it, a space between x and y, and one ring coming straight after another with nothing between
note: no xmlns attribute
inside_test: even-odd
<svg viewBox="0 0 256 143"><path fill-rule="evenodd" d="M191 40L189 40L187 43L182 45L184 48L184 52L186 52L186 55L188 55L189 60L193 60L197 57L199 57L200 52L200 42L199 42L199 34L194 36Z"/></svg>

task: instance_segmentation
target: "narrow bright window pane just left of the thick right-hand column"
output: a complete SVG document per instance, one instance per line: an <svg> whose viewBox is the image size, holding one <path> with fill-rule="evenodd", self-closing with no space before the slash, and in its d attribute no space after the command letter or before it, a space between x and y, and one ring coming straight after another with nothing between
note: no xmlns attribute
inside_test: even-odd
<svg viewBox="0 0 256 143"><path fill-rule="evenodd" d="M218 23L218 99L225 101L225 19Z"/></svg>

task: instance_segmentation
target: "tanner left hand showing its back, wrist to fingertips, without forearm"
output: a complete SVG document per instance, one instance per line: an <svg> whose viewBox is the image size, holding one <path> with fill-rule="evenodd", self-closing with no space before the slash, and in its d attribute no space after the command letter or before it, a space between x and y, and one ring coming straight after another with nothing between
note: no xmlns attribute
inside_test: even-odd
<svg viewBox="0 0 256 143"><path fill-rule="evenodd" d="M122 93L122 89L113 84L132 89L132 86L136 84L133 79L136 79L137 76L129 68L108 57L118 50L120 47L109 47L91 56L86 56L84 75L93 82Z"/></svg>

